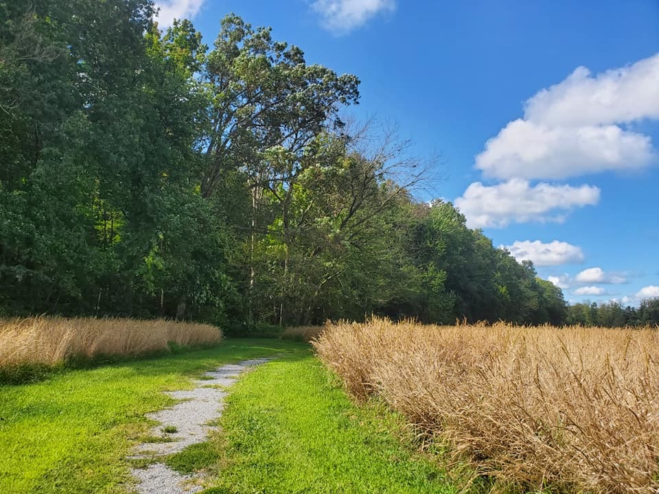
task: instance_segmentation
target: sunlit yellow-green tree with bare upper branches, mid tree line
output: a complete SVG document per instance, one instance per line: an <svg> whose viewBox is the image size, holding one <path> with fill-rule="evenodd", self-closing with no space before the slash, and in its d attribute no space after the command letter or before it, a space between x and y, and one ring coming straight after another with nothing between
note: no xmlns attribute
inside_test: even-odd
<svg viewBox="0 0 659 494"><path fill-rule="evenodd" d="M277 322L361 318L382 307L400 279L392 267L404 231L397 211L410 198L389 176L404 165L389 139L370 152L357 142L320 134L297 175L265 191L273 218L255 249L255 300L269 293Z"/></svg>

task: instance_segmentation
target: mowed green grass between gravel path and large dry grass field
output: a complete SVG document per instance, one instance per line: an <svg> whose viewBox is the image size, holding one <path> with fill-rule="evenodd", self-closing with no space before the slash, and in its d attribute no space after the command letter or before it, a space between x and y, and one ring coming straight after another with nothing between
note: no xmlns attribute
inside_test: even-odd
<svg viewBox="0 0 659 494"><path fill-rule="evenodd" d="M206 494L456 492L400 416L337 385L310 354L265 364L231 388L222 432L169 463L207 469Z"/></svg>

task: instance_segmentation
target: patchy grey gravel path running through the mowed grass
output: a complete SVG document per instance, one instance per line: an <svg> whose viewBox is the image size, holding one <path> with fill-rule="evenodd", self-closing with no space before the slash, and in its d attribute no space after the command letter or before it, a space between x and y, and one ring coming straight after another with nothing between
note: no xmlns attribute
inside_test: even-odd
<svg viewBox="0 0 659 494"><path fill-rule="evenodd" d="M135 448L135 455L130 458L157 458L178 453L194 443L203 443L211 430L216 427L207 425L218 419L224 408L225 388L231 386L235 379L253 366L268 362L268 358L244 360L238 364L227 364L216 371L207 372L203 379L194 381L194 389L167 392L172 398L181 399L172 408L147 414L149 419L159 422L151 430L152 436L167 436L171 442L145 443ZM165 427L176 432L166 434ZM139 494L189 494L202 490L194 483L192 475L181 475L162 462L150 464L146 469L133 469L137 478Z"/></svg>

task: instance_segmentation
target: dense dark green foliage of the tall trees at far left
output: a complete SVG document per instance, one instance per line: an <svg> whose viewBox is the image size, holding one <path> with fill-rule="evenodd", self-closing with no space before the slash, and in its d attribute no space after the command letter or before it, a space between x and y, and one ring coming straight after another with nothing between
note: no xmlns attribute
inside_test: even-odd
<svg viewBox="0 0 659 494"><path fill-rule="evenodd" d="M3 86L24 96L0 122L1 305L221 319L232 247L198 187L200 34L161 39L147 0L30 5L1 4L2 73L25 73Z"/></svg>

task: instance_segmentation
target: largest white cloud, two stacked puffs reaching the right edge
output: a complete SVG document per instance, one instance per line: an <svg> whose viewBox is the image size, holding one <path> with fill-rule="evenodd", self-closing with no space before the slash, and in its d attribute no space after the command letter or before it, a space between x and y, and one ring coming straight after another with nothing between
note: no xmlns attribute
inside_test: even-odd
<svg viewBox="0 0 659 494"><path fill-rule="evenodd" d="M649 136L625 124L659 119L659 54L592 75L579 67L524 104L476 167L500 179L568 178L645 167L656 157Z"/></svg>

